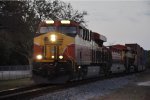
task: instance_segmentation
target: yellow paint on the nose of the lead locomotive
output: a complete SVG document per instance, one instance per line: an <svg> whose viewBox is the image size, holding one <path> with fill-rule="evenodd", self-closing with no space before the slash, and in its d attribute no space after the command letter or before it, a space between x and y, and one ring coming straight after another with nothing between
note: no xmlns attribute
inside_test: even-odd
<svg viewBox="0 0 150 100"><path fill-rule="evenodd" d="M50 42L50 36L54 34L56 35L56 41ZM47 37L46 42L46 59L45 60L38 60L38 62L52 62L53 59L51 56L54 55L54 46L59 46L59 55L63 54L64 50L66 49L67 45L74 44L75 39L74 37L67 36L65 34L61 34L58 32L50 32L47 34L40 35L34 38L34 44L38 44L40 46L44 46L44 38Z"/></svg>

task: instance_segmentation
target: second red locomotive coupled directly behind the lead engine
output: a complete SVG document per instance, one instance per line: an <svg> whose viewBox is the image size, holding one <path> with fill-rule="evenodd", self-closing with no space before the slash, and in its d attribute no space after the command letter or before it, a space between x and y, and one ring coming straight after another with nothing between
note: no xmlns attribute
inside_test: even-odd
<svg viewBox="0 0 150 100"><path fill-rule="evenodd" d="M136 71L135 56L136 53L130 47L125 45L112 45L109 46L112 54L112 73L130 73Z"/></svg>

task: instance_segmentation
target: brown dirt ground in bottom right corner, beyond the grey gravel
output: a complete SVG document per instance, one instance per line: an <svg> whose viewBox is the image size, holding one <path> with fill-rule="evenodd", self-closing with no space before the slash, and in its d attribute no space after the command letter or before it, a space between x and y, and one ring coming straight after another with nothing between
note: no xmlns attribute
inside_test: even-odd
<svg viewBox="0 0 150 100"><path fill-rule="evenodd" d="M90 100L150 100L150 71L136 75L136 79L114 92Z"/></svg>

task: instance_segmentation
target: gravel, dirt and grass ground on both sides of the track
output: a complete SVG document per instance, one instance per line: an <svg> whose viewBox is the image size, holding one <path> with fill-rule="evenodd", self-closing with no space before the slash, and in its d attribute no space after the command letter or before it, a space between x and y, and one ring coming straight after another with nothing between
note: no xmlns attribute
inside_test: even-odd
<svg viewBox="0 0 150 100"><path fill-rule="evenodd" d="M30 78L0 81L0 90L35 84ZM150 100L150 69L47 93L33 100Z"/></svg>

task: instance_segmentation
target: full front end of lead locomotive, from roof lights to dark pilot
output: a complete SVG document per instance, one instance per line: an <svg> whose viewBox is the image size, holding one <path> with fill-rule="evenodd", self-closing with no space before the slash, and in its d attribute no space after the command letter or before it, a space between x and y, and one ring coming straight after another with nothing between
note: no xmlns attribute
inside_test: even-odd
<svg viewBox="0 0 150 100"><path fill-rule="evenodd" d="M34 37L33 71L48 78L71 73L78 23L44 21Z"/></svg>

